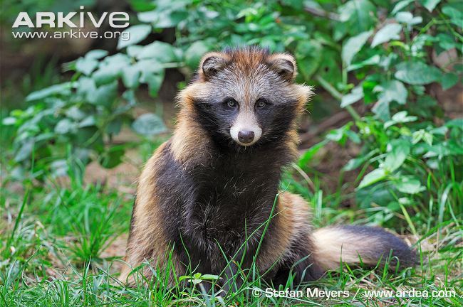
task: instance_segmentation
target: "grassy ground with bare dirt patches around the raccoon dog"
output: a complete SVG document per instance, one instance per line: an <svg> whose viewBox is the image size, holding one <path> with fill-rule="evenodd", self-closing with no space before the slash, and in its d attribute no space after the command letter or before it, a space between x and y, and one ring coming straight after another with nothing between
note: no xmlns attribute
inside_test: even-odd
<svg viewBox="0 0 463 307"><path fill-rule="evenodd" d="M123 137L132 136L123 134ZM316 170L326 173L327 182L323 186L328 193L335 190L337 183L333 178L345 162L340 160L348 159L350 150L355 151L333 145L318 153L316 158L321 162ZM49 178L43 188L37 188L37 183L4 186L0 237L2 245L9 248L1 250L0 274L4 284L0 302L5 306L396 306L420 303L461 306L463 303L463 244L459 220L449 220L438 227L420 227L419 234L402 236L420 249L420 264L416 268L390 272L343 266L308 285L310 292L303 287L298 289L300 292L269 293L259 279L246 282L242 289L224 298L210 298L192 288L191 283L172 291L160 281L148 281L147 288L141 284L125 288L118 284L117 276L125 254L137 175L149 152L150 148L130 151L124 163L110 170L91 163L83 183L71 177ZM345 178L349 181L350 177ZM319 186L312 188L315 192L320 189ZM351 223L361 219L363 210L355 208L354 203L348 199L335 212L322 208L323 217L316 224ZM316 204L311 205L317 210ZM163 276L165 272L157 274ZM194 283L203 277L184 279ZM315 289L318 292L314 292ZM370 290L397 292L394 296L388 292L368 293ZM400 290L423 291L420 295L429 297L420 298L417 293ZM415 297L400 298L397 293ZM340 297L334 297L336 295Z"/></svg>

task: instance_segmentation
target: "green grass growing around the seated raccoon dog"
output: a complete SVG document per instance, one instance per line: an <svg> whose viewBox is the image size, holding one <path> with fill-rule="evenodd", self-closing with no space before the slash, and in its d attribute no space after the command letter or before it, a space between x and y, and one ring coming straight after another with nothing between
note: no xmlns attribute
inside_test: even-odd
<svg viewBox="0 0 463 307"><path fill-rule="evenodd" d="M374 223L371 217L375 214L369 215L370 212L365 209L342 208L340 198L346 196L340 190L323 193L317 176L308 179L300 171L288 173L283 185L311 201L317 226ZM392 274L379 267L367 269L343 265L328 272L320 281L294 289L297 292L283 291L280 296L272 296L270 290L266 290L269 285L261 281L259 272L252 267L239 273L246 278L243 286L222 297L202 291L201 282L215 283L218 278L201 274L205 272L192 271L187 276L176 276L173 288L166 286L167 276L172 274L170 269L161 271L152 267L155 279L144 280L138 274L140 282L135 287L127 288L118 283L132 194L119 192L108 185L85 185L73 174L66 183L58 183L51 176L47 178L44 185L31 181L26 181L24 186L4 183L1 190L0 306L463 304L461 208L448 201L449 196L461 193L457 183L438 188L435 193L439 201L428 204L418 217L416 212L422 210L417 205L419 199L411 199L412 205L407 207L409 210L404 208L404 212L395 212L388 220L394 223L393 228L397 232L417 233L417 237L407 237L420 251L420 265L415 268ZM435 187L430 183L428 188ZM439 212L442 216L432 216L432 212ZM311 292L307 293L306 289ZM367 292L413 289L428 296L417 297L417 294L411 293L414 297L400 298L397 292L395 296L383 292L368 297L370 294ZM329 293L331 297L323 297L321 293ZM410 293L405 294L410 296Z"/></svg>

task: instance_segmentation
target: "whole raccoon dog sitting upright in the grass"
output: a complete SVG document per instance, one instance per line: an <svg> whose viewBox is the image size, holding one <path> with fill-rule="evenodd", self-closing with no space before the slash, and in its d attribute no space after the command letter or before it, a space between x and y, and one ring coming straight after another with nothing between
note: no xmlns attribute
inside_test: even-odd
<svg viewBox="0 0 463 307"><path fill-rule="evenodd" d="M196 79L180 92L172 138L147 161L137 187L126 262L222 274L253 264L274 284L319 279L340 262L410 266L415 253L376 227L313 230L303 198L279 191L296 158L296 119L311 96L298 85L296 62L260 48L207 53ZM170 253L171 251L171 253ZM147 278L152 270L142 272Z"/></svg>

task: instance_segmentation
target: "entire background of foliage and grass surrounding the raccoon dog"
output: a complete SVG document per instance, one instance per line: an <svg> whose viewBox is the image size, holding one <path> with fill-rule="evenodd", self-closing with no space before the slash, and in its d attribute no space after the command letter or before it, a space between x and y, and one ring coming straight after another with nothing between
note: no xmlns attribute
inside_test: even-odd
<svg viewBox="0 0 463 307"><path fill-rule="evenodd" d="M80 5L95 14L130 12L130 41L11 35L19 11L68 12ZM50 0L2 6L5 303L27 304L35 296L50 304L65 297L86 304L122 299L120 289L103 294L109 277L102 272L114 274L115 259L123 255L133 182L172 131L175 92L191 79L199 58L230 45L293 53L298 82L316 87L301 121L301 156L282 182L311 202L314 223L389 227L426 249L426 264L412 273L419 277L405 273L397 284L461 286L460 1ZM351 282L340 285L348 279L344 271L325 286L355 291L365 286L358 277L363 273L348 271ZM86 294L87 279L95 293ZM397 286L390 276L370 280L376 282ZM53 295L41 292L48 288ZM184 298L138 290L131 295L145 303L150 296ZM200 293L189 294L194 301ZM240 295L249 300L246 291Z"/></svg>

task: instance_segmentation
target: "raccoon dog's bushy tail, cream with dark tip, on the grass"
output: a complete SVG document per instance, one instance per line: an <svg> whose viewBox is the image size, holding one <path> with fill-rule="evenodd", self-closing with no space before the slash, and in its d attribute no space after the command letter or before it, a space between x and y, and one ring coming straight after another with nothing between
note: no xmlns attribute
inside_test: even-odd
<svg viewBox="0 0 463 307"><path fill-rule="evenodd" d="M391 269L397 262L401 268L417 262L416 252L402 239L379 227L325 227L313 233L313 241L318 263L327 270L338 269L341 261L369 266L388 261Z"/></svg>

